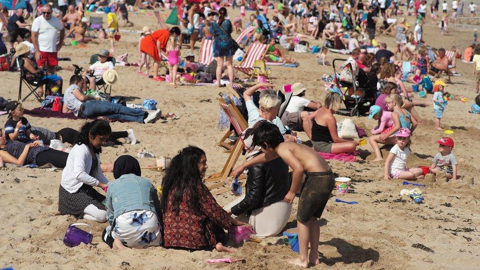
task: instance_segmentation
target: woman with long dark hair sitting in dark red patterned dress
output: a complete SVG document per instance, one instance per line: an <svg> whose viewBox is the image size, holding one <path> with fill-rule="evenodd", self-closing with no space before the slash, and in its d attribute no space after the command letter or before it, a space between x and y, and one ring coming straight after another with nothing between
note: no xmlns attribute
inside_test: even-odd
<svg viewBox="0 0 480 270"><path fill-rule="evenodd" d="M172 158L162 181L164 246L187 250L233 252L225 247L230 225L245 225L230 217L202 182L207 170L205 152L189 146Z"/></svg>

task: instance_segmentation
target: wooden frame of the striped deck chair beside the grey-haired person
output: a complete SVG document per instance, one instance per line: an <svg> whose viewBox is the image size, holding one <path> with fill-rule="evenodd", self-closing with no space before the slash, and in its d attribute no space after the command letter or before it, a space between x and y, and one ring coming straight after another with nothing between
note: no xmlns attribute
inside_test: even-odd
<svg viewBox="0 0 480 270"><path fill-rule="evenodd" d="M227 115L230 122L233 124L235 131L240 135L243 130L248 128L248 123L245 119L243 119L243 116L241 115L238 108L232 105L234 104L233 100L230 99L230 101L231 104L227 104L225 100L223 100L223 98L219 98L219 105L220 108L222 108L222 110ZM222 171L208 177L206 181L221 180L225 182L225 180L230 176L233 167L235 166L235 164L237 164L240 154L244 148L245 145L243 144L243 140L239 137L234 147L230 151L230 155L228 156Z"/></svg>

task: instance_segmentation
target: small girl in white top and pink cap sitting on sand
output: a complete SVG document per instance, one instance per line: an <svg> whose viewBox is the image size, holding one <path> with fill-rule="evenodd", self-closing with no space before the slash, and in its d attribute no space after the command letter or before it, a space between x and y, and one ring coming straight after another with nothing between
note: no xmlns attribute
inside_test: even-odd
<svg viewBox="0 0 480 270"><path fill-rule="evenodd" d="M391 148L389 156L385 160L385 180L405 179L417 180L423 178L420 168L408 169L407 157L410 154L410 129L402 127L395 135L397 143Z"/></svg>

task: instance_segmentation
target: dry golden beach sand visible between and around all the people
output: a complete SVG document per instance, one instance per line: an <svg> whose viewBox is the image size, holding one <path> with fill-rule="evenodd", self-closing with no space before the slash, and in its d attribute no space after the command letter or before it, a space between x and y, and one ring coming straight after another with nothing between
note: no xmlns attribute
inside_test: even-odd
<svg viewBox="0 0 480 270"><path fill-rule="evenodd" d="M236 10L238 12L238 9ZM161 11L170 13L169 11ZM130 18L135 27L144 25L154 28L155 18L150 12L134 14ZM451 30L451 29L450 29ZM472 42L471 31L458 30L447 36L441 36L440 30L430 22L424 27L425 40L434 47L450 48L452 45L463 50ZM394 37L380 36L393 47ZM70 39L67 39L69 41ZM116 55L128 52L129 60L137 59L137 34L122 34L117 42ZM312 41L311 45L319 42ZM61 57L71 57L72 62L86 67L90 55L104 45L89 44L87 49L65 46ZM200 43L197 43L199 46ZM183 50L185 51L185 50ZM277 89L283 84L303 82L308 91L306 97L322 100L325 96L324 83L320 77L331 74L331 67L321 67L312 54L292 53L300 62L299 68L272 67L273 83ZM330 53L327 58L345 58ZM320 266L317 268L375 268L404 269L419 267L439 268L479 268L480 267L480 213L479 193L480 179L478 150L480 140L479 116L468 113L475 98L474 78L471 75L472 64L457 62L461 77L453 77L453 84L447 90L453 94L465 95L469 102L449 102L442 119L442 125L454 131L455 155L462 160L458 173L462 180L474 179L475 184L428 183L420 188L425 200L423 204L414 204L410 198L401 198L399 191L405 186L400 180L382 179L383 164L370 163L373 159L370 146L361 148L361 155L366 161L345 164L338 161L329 162L333 171L340 176L353 180L354 193L344 196L334 195L348 201L358 201L358 205L335 203L330 199L321 219ZM113 130L133 128L139 140L137 145L124 145L129 154L135 156L135 150L144 148L156 156L173 156L187 145L196 145L207 152L209 171L221 170L228 153L216 146L216 141L224 131L217 129L219 107L215 101L217 93L227 91L225 88L182 86L172 88L167 83L158 83L136 74L135 67L118 67L120 78L113 88L114 95L125 96L128 102L141 103L144 98L153 98L157 107L163 112L175 112L180 120L167 123L139 124L112 123ZM65 82L71 72L60 71ZM0 95L16 98L18 73L2 72ZM66 86L64 87L64 89ZM431 95L429 95L431 98ZM201 102L211 99L211 102ZM30 98L24 107L38 107L39 103ZM435 141L443 132L434 131L434 114L431 107L418 108L424 121L413 135L413 153L408 159L408 166L430 165L432 156L437 152ZM79 128L83 120L45 119L27 116L30 123L43 126L53 131L62 127ZM338 120L343 116L336 116ZM6 120L0 117L1 122ZM366 117L354 118L360 127L370 130L375 126L374 120ZM304 133L300 137L305 140ZM384 153L387 150L383 150ZM113 162L120 153L119 147L104 148L101 154L103 162ZM141 165L154 165L155 159L140 160ZM477 164L477 165L476 165ZM155 185L159 185L162 173L144 170L144 176ZM106 174L113 180L112 174ZM262 243L245 243L234 254L214 252L187 252L161 247L145 250L110 250L101 241L101 232L105 224L88 222L93 228L93 243L74 248L62 243L65 229L76 222L72 216L55 215L58 209L58 188L60 172L46 172L41 169L3 168L0 170L0 267L14 266L16 269L287 269L294 268L284 262L298 254L292 252L282 242L282 238L271 237ZM15 180L18 179L18 180ZM216 196L220 205L234 200L230 193ZM296 227L296 208L287 228ZM83 220L79 220L83 221ZM413 247L423 244L432 251ZM208 265L209 258L244 258L244 263L233 265Z"/></svg>

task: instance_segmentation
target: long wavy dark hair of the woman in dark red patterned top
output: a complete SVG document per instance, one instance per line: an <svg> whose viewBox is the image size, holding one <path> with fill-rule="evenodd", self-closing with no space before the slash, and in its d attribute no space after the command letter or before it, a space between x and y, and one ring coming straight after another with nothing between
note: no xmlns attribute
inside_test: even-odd
<svg viewBox="0 0 480 270"><path fill-rule="evenodd" d="M169 196L173 196L173 211L178 213L183 192L186 192L189 197L187 200L189 207L195 211L198 210L198 186L203 184L198 171L198 163L200 163L202 155L205 155L204 150L188 146L172 158L162 180L160 206L163 212L167 210ZM171 194L172 192L175 193Z"/></svg>

